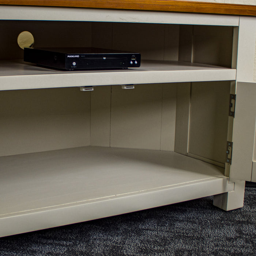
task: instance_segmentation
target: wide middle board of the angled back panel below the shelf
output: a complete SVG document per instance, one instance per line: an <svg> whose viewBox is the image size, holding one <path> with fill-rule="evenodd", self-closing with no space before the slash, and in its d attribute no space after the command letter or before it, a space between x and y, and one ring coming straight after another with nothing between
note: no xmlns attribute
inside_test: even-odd
<svg viewBox="0 0 256 256"><path fill-rule="evenodd" d="M112 86L110 146L160 150L162 84Z"/></svg>

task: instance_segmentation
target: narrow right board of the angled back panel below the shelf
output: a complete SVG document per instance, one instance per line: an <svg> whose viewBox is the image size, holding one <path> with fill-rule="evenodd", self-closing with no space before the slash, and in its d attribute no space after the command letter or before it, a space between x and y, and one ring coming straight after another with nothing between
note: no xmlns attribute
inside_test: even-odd
<svg viewBox="0 0 256 256"><path fill-rule="evenodd" d="M161 150L174 151L177 84L163 84Z"/></svg>

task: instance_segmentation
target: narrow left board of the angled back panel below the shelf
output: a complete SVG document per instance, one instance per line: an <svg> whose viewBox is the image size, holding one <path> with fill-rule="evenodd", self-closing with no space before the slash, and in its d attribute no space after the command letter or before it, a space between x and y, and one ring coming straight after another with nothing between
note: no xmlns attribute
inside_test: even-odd
<svg viewBox="0 0 256 256"><path fill-rule="evenodd" d="M91 92L91 146L110 146L111 86L95 86Z"/></svg>

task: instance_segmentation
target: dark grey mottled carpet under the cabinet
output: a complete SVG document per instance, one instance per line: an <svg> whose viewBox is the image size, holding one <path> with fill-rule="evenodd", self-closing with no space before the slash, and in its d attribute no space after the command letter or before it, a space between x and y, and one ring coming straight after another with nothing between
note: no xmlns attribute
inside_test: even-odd
<svg viewBox="0 0 256 256"><path fill-rule="evenodd" d="M206 197L3 237L0 255L256 255L256 188L246 187L238 210Z"/></svg>

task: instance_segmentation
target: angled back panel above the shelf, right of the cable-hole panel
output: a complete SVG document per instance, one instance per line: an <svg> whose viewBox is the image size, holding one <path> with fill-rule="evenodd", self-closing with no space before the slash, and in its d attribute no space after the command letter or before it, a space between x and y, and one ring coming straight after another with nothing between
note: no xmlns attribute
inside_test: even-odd
<svg viewBox="0 0 256 256"><path fill-rule="evenodd" d="M92 45L139 52L143 60L178 60L179 25L92 23Z"/></svg>

